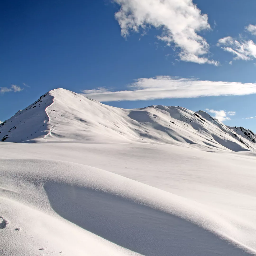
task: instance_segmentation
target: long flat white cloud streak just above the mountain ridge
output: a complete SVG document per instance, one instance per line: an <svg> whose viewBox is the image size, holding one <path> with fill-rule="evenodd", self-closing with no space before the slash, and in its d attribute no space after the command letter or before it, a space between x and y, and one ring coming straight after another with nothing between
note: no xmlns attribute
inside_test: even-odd
<svg viewBox="0 0 256 256"><path fill-rule="evenodd" d="M105 88L98 88L94 90L83 90L82 94L97 101L105 102L247 95L256 93L256 83L200 81L171 76L140 78L130 84L129 88L130 90L115 92Z"/></svg>

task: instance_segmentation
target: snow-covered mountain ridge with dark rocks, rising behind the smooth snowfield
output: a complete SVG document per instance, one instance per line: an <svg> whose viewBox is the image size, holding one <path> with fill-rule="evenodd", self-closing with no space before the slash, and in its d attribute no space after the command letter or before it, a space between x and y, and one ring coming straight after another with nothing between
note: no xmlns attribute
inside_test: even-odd
<svg viewBox="0 0 256 256"><path fill-rule="evenodd" d="M204 111L176 106L121 109L59 88L0 125L5 142L161 143L201 150L256 151L256 135Z"/></svg>

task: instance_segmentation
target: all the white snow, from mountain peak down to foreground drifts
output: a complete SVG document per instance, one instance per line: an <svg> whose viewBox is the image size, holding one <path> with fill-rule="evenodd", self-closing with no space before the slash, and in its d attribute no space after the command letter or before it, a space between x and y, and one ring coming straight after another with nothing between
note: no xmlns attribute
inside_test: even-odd
<svg viewBox="0 0 256 256"><path fill-rule="evenodd" d="M30 106L0 126L0 255L256 254L251 131L63 89Z"/></svg>

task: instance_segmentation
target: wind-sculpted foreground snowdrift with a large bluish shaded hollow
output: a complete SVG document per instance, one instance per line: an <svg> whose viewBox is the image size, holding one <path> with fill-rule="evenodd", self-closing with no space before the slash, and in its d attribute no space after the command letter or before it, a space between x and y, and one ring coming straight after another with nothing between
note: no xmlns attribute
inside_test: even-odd
<svg viewBox="0 0 256 256"><path fill-rule="evenodd" d="M255 224L221 208L82 164L2 159L0 166L5 256L255 252Z"/></svg>

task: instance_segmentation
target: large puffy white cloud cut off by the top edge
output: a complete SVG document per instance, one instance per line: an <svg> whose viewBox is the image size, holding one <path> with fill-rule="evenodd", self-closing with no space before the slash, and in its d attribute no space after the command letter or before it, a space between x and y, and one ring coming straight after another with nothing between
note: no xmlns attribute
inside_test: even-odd
<svg viewBox="0 0 256 256"><path fill-rule="evenodd" d="M155 27L161 30L159 40L179 48L179 57L183 61L209 63L205 55L209 52L209 44L197 32L210 29L208 17L192 0L113 0L120 5L115 13L121 27L121 35L127 37L130 31L139 32Z"/></svg>

